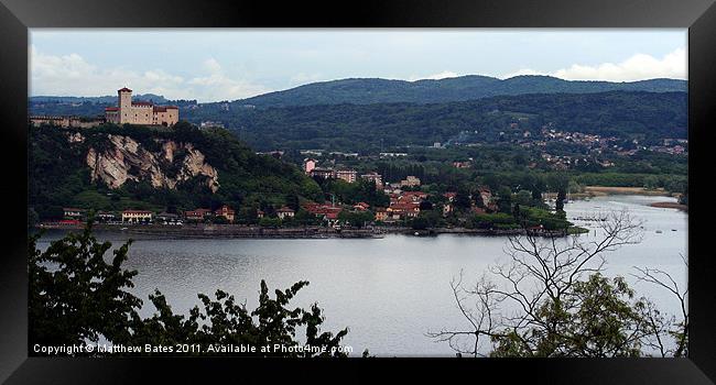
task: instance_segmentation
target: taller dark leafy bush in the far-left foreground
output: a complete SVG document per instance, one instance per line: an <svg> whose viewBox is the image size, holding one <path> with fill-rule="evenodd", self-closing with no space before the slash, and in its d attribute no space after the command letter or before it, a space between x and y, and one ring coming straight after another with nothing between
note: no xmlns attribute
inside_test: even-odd
<svg viewBox="0 0 716 385"><path fill-rule="evenodd" d="M91 235L91 220L82 233L69 233L42 253L36 249L40 235L28 242L30 345L82 344L126 333L142 304L127 292L137 271L121 268L131 242L115 250L108 264L104 255L111 243Z"/></svg>

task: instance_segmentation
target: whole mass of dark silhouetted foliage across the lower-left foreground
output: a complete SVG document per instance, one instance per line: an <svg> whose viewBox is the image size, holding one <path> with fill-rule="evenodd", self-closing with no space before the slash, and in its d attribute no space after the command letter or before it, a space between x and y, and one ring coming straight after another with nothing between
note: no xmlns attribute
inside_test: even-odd
<svg viewBox="0 0 716 385"><path fill-rule="evenodd" d="M91 220L79 233L69 233L40 252L40 234L28 239L29 248L29 346L83 345L101 338L123 345L198 345L194 354L221 354L210 351L218 344L249 344L257 348L279 344L285 349L248 352L248 355L345 356L340 341L345 328L337 333L322 332L325 320L317 304L310 309L290 308L299 290L308 282L301 280L285 290L274 290L275 298L261 280L259 305L249 310L234 296L216 290L216 299L198 294L203 309L195 306L188 314L175 315L164 295L155 290L149 296L158 309L142 319L138 310L142 301L126 289L131 288L137 271L122 268L131 242L118 248L111 263L105 254L109 242L91 235ZM48 268L48 264L54 265ZM305 329L305 344L296 338ZM292 349L307 345L310 349ZM181 352L175 352L181 353ZM101 353L93 353L99 355ZM142 353L145 354L145 353ZM236 353L228 353L236 355Z"/></svg>

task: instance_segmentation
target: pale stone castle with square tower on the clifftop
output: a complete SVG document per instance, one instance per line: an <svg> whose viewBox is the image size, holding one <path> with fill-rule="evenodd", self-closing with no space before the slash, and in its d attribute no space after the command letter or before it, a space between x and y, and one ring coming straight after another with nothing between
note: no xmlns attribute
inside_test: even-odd
<svg viewBox="0 0 716 385"><path fill-rule="evenodd" d="M132 101L132 90L117 91L118 107L105 109L105 119L116 124L174 125L178 122L178 107L154 106L151 101Z"/></svg>

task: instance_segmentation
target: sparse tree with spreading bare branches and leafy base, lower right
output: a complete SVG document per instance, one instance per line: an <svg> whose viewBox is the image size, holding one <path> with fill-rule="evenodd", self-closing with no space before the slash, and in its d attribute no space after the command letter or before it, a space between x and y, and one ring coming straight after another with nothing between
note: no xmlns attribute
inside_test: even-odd
<svg viewBox="0 0 716 385"><path fill-rule="evenodd" d="M641 241L640 223L622 211L599 226L604 235L596 241L530 232L509 238L508 263L492 266L469 288L462 273L451 283L470 328L427 336L474 356L639 356L649 353L644 348L664 346L668 338L677 346L671 352L683 354L687 320L664 321L623 278L601 274L605 253ZM653 280L654 273L641 276Z"/></svg>

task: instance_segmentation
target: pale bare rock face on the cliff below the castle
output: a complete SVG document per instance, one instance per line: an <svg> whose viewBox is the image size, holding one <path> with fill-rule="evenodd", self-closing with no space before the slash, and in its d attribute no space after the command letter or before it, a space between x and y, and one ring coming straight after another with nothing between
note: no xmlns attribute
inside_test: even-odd
<svg viewBox="0 0 716 385"><path fill-rule="evenodd" d="M162 144L161 153L152 153L129 136L108 135L108 148L98 152L90 147L87 153L93 182L102 180L110 188L118 188L127 180L149 180L155 188L174 189L178 183L203 175L207 177L207 187L213 193L219 188L218 172L205 162L204 154L192 144L166 141ZM186 154L176 176L170 177L162 166L177 166L174 161L180 151Z"/></svg>

